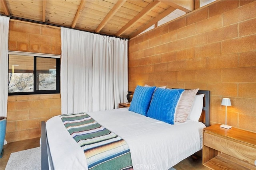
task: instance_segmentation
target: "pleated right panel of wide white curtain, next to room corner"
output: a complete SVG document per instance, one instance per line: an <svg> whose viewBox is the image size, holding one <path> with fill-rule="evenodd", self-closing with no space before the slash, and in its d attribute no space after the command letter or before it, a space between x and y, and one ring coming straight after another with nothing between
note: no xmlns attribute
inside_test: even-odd
<svg viewBox="0 0 256 170"><path fill-rule="evenodd" d="M125 40L94 34L93 111L118 108L118 103L127 102L127 48Z"/></svg>

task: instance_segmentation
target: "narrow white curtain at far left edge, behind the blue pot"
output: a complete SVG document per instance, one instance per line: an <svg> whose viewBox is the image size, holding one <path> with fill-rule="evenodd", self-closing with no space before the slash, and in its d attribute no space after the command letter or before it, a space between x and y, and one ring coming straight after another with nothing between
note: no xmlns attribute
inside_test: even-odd
<svg viewBox="0 0 256 170"><path fill-rule="evenodd" d="M0 16L0 115L7 116L9 17Z"/></svg>

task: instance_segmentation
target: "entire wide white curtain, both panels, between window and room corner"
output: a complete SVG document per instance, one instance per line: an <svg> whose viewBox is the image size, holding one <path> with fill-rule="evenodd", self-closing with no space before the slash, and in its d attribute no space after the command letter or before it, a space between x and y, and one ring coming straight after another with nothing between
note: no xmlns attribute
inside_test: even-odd
<svg viewBox="0 0 256 170"><path fill-rule="evenodd" d="M62 114L127 102L128 41L61 28Z"/></svg>

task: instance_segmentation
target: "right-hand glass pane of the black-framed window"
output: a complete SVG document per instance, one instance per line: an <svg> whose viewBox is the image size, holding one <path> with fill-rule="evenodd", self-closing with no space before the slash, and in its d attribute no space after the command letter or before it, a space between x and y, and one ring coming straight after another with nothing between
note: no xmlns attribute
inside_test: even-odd
<svg viewBox="0 0 256 170"><path fill-rule="evenodd" d="M56 59L36 58L36 90L56 90Z"/></svg>

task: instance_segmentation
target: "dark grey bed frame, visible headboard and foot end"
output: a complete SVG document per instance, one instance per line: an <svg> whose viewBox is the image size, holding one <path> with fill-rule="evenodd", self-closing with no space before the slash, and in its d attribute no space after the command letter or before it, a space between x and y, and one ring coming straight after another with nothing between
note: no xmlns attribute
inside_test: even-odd
<svg viewBox="0 0 256 170"><path fill-rule="evenodd" d="M210 126L210 91L209 90L198 90L197 94L204 94L204 105L203 111L205 113L206 127ZM49 170L54 169L50 148L48 145L45 121L41 122L41 169Z"/></svg>

